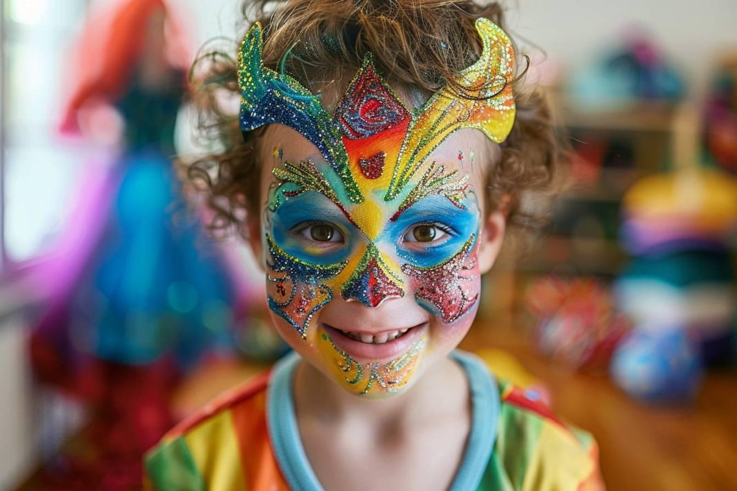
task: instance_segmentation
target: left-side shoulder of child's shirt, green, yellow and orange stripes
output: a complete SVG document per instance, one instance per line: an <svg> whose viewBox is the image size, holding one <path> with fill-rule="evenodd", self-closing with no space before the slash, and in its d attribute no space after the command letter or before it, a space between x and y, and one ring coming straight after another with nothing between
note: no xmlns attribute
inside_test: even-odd
<svg viewBox="0 0 737 491"><path fill-rule="evenodd" d="M245 488L249 448L268 447L265 405L270 372L223 393L176 425L144 456L149 489L204 490L227 476L224 489ZM240 485L242 484L242 486Z"/></svg>

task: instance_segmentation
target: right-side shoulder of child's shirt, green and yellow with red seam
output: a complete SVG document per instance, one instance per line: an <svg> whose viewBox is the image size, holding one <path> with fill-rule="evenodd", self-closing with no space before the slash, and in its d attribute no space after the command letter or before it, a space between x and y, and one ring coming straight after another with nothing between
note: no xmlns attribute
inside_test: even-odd
<svg viewBox="0 0 737 491"><path fill-rule="evenodd" d="M600 490L598 447L567 425L534 392L500 383L500 414L492 464L502 489Z"/></svg>

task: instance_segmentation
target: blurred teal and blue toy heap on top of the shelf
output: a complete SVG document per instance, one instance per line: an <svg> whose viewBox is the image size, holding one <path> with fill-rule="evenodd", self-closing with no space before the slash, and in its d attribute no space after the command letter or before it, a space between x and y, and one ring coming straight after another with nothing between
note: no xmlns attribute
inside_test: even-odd
<svg viewBox="0 0 737 491"><path fill-rule="evenodd" d="M571 100L591 110L680 99L685 91L682 77L664 60L649 35L630 29L622 38L618 51L576 74L568 91Z"/></svg>

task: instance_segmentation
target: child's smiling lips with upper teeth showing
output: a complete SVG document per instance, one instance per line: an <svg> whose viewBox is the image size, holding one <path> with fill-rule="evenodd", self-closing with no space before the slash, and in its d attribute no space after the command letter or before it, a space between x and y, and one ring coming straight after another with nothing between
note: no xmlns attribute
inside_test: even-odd
<svg viewBox="0 0 737 491"><path fill-rule="evenodd" d="M366 361L390 361L405 354L427 331L427 322L408 328L368 332L321 324L338 349Z"/></svg>

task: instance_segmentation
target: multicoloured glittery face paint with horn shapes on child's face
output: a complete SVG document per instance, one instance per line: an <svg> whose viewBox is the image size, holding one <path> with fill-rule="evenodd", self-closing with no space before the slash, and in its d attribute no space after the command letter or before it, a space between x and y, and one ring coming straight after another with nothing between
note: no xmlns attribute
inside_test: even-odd
<svg viewBox="0 0 737 491"><path fill-rule="evenodd" d="M483 52L457 78L472 97L442 90L413 111L370 55L329 114L296 80L262 66L259 24L241 46L241 129L284 124L320 152L292 161L283 159L287 141L273 149L280 163L263 219L268 303L357 394L405 387L431 343L422 336L397 357L357 359L333 339L338 331L315 320L321 308L338 295L368 308L409 297L452 326L478 300L480 211L459 166L463 152L455 163L428 158L455 130L475 128L495 142L511 130L511 43L490 21L476 25ZM418 229L431 240L413 240Z"/></svg>

